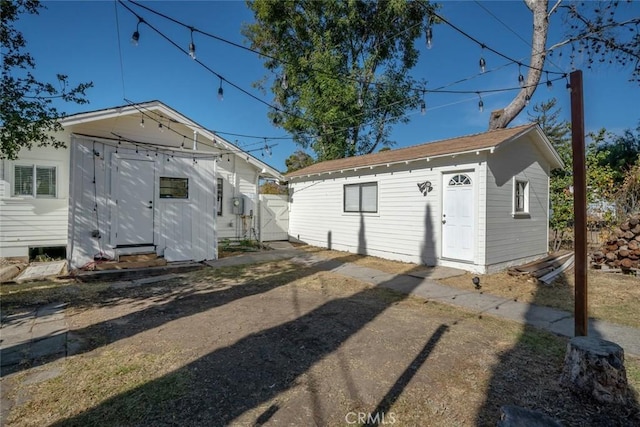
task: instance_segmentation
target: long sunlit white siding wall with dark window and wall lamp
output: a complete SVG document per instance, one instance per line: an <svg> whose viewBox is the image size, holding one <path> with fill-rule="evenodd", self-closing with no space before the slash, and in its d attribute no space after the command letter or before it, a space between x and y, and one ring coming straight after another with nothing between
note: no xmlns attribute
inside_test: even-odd
<svg viewBox="0 0 640 427"><path fill-rule="evenodd" d="M440 252L441 170L405 167L291 183L289 234L321 247L435 263ZM417 185L424 181L433 186L426 197ZM365 182L378 183L378 212L343 212L343 186Z"/></svg>

